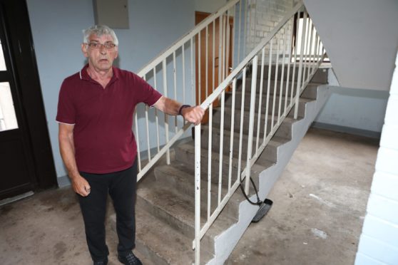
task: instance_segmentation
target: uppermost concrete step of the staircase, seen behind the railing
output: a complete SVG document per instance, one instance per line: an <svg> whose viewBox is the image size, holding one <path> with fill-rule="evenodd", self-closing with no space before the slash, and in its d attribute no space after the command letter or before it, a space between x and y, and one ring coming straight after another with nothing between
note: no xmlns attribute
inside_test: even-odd
<svg viewBox="0 0 398 265"><path fill-rule="evenodd" d="M285 71L283 72L284 75L284 79L287 79L287 64L285 64ZM308 69L308 68L307 68ZM304 68L303 68L304 70ZM280 80L281 76L282 76L282 64L280 64L278 66L278 71L277 71L277 80ZM271 67L271 75L270 78L272 80L275 80L275 73L276 73L276 68L275 68L275 64L272 65ZM295 80L297 81L298 78L298 64L296 63L296 69L295 69L295 73L294 73L294 78L293 78L293 66L290 66L290 73L289 73L289 80ZM307 73L306 73L307 75ZM261 65L258 66L257 68L257 78L260 79L261 77ZM263 74L263 78L265 80L268 80L268 66L265 65L264 66L264 74ZM312 77L312 82L316 82L316 83L327 83L327 69L325 68L319 68L317 70L317 72L315 72L315 75Z"/></svg>

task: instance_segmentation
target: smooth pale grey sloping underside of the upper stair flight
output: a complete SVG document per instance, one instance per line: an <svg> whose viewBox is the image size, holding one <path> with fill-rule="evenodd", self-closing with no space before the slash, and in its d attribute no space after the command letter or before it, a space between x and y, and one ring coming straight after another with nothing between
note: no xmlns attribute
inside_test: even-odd
<svg viewBox="0 0 398 265"><path fill-rule="evenodd" d="M340 84L389 90L398 47L396 0L304 0Z"/></svg>

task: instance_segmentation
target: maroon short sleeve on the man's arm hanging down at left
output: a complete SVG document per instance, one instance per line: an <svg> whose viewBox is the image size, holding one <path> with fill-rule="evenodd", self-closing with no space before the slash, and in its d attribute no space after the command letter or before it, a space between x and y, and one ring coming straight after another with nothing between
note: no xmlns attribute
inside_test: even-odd
<svg viewBox="0 0 398 265"><path fill-rule="evenodd" d="M71 92L71 87L67 85L66 80L63 80L58 96L58 111L56 114L56 121L58 123L76 123L76 110L73 105Z"/></svg>

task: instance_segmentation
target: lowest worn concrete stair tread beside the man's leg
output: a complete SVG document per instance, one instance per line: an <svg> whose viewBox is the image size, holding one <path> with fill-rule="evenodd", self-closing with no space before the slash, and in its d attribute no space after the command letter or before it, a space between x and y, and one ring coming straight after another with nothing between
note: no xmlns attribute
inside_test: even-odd
<svg viewBox="0 0 398 265"><path fill-rule="evenodd" d="M164 259L167 264L185 265L193 262L193 239L188 239L143 209L136 209L136 241L138 245L143 244L151 252ZM201 256L205 260L213 257L204 250L201 251Z"/></svg>

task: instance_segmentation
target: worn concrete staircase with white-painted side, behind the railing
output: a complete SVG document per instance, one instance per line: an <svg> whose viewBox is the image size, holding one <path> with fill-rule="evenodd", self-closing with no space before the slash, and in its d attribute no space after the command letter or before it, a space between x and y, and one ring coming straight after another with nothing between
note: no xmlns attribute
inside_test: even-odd
<svg viewBox="0 0 398 265"><path fill-rule="evenodd" d="M265 66L264 80L267 82L268 70ZM272 66L271 73L275 73L275 66ZM290 71L292 73L292 71ZM260 75L257 75L260 76ZM297 75L298 76L298 75ZM297 76L292 80L290 75L290 83L297 81ZM271 76L271 87L275 82L280 85L280 76ZM245 100L250 100L250 83L252 78L250 74L245 80L240 80L236 91L235 101L235 126L233 134L234 146L239 145L240 136L240 117L243 112L243 138L248 138L248 115L249 109L240 109L240 103L243 99L242 85L246 83ZM298 143L305 135L317 113L325 104L329 95L327 85L327 71L318 69L311 82L307 85L299 100L297 120L292 118L294 108L282 121L275 135L271 138L269 144L260 155L255 165L252 167L252 180L259 188L260 198L265 198L282 173L282 170L289 162L292 153ZM257 98L259 95L260 80L257 81ZM274 114L274 123L277 122L277 111L272 112L272 103L280 102L290 103L291 95L289 92L282 90L280 93L277 89L275 95L271 93L268 98L268 117L267 122L272 123L272 113ZM266 95L262 96L262 105L267 101ZM225 93L225 114L224 114L224 134L220 135L220 108L213 109L213 126L212 142L210 152L214 152L212 157L219 157L220 140L223 139L223 172L228 172L228 164L230 156L230 125L232 114L232 95L230 92ZM257 100L258 102L258 100ZM248 106L248 104L245 104ZM256 105L257 112L257 105ZM262 110L265 113L265 110ZM257 113L255 115L257 121ZM263 123L263 121L262 121ZM257 128L257 127L255 127ZM259 128L264 128L261 124ZM268 126L270 128L270 126ZM202 125L203 135L208 135L208 125ZM260 135L264 132L260 130ZM257 134L255 129L254 135ZM255 139L255 138L254 138ZM213 177L211 185L211 203L208 206L208 137L202 137L202 185L201 185L201 207L203 224L207 219L206 213L208 207L213 210L215 202L218 200L218 177ZM253 140L253 146L256 145ZM232 175L238 174L238 152L233 151ZM255 150L255 148L253 148ZM243 146L242 150L242 167L245 165L245 157L247 146ZM137 201L136 201L136 251L146 256L153 264L193 264L195 261L195 252L192 249L193 239L195 238L195 143L193 140L176 145L171 151L170 165L162 160L148 172L146 177L138 183ZM219 159L214 158L210 170L212 175L219 170ZM235 177L234 177L235 178ZM223 185L221 186L221 194L225 194L228 190L228 174L223 174ZM250 196L254 194L254 190L250 189ZM255 197L252 196L252 200ZM277 207L277 205L275 205ZM250 224L252 217L258 207L249 204L240 189L237 189L228 204L215 220L215 223L205 234L200 244L200 264L223 264L233 250L235 244L238 243L243 232ZM111 217L111 222L116 218ZM116 226L116 224L115 224Z"/></svg>

